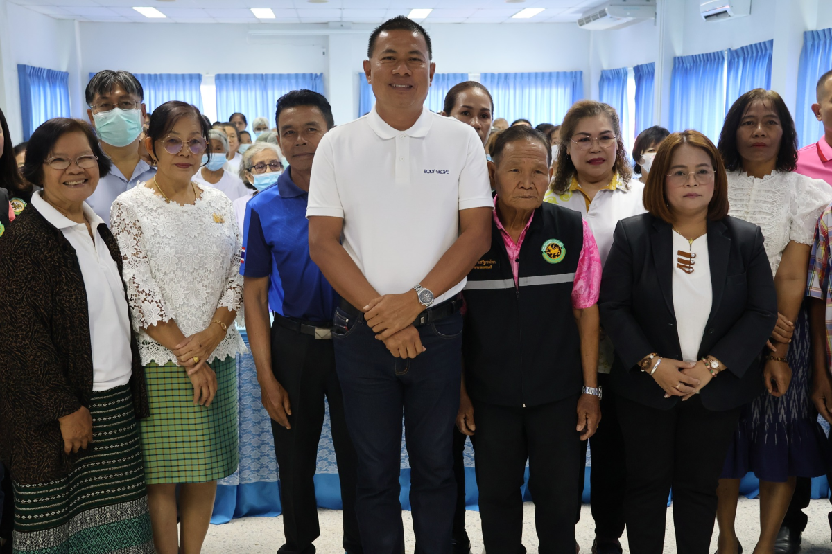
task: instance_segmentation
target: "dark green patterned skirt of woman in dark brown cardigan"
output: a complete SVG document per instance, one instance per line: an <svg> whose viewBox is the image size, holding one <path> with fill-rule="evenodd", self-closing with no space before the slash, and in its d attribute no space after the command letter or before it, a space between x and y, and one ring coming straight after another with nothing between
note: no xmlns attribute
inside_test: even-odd
<svg viewBox="0 0 832 554"><path fill-rule="evenodd" d="M12 481L12 552L156 552L130 386L93 392L89 409L92 444L72 473L51 483Z"/></svg>

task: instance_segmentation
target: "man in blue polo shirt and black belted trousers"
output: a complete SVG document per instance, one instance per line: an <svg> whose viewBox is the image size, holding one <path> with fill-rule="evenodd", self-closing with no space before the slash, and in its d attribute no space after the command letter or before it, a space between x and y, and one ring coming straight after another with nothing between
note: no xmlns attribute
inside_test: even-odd
<svg viewBox="0 0 832 554"><path fill-rule="evenodd" d="M355 451L330 332L339 297L310 259L306 219L312 159L334 126L332 110L317 92L291 91L277 101L275 121L289 168L246 205L240 273L245 327L280 469L286 542L278 553L315 552L312 542L320 531L313 476L325 396L344 504L344 550L359 554L364 551L355 517Z"/></svg>

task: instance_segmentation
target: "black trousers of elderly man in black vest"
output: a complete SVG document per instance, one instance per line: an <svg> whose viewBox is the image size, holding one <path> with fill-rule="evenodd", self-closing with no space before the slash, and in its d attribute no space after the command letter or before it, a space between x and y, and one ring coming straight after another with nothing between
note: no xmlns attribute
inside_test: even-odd
<svg viewBox="0 0 832 554"><path fill-rule="evenodd" d="M537 552L574 552L576 477L582 466L576 406L577 396L533 408L473 401L477 421L474 457L486 552L526 552L521 542L520 490L526 459L540 539Z"/></svg>

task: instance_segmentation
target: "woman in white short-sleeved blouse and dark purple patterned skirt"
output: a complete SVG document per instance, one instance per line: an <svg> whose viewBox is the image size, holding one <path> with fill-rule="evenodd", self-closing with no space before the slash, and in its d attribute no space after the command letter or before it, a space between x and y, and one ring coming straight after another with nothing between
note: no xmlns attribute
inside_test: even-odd
<svg viewBox="0 0 832 554"><path fill-rule="evenodd" d="M815 226L832 201L832 188L795 173L795 124L774 91L755 89L735 101L719 149L729 169L729 215L756 223L763 232L779 321L762 360L761 394L740 417L720 480L718 552L739 550L734 517L740 478L749 471L760 478L755 552L772 552L796 478L826 473L824 433L809 397L809 325L801 305Z"/></svg>

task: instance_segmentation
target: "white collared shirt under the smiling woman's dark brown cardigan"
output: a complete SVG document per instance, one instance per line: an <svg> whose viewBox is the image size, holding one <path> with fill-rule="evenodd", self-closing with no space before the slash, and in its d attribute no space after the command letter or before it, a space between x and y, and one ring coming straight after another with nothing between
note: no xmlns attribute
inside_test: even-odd
<svg viewBox="0 0 832 554"><path fill-rule="evenodd" d="M118 274L110 249L98 234L104 220L85 202L84 218L90 223L95 239L87 225L65 217L42 198L42 192L32 194L32 206L44 219L61 230L75 249L84 290L87 292L87 314L90 320L92 343L92 390L110 390L130 382L133 353L130 347L130 310L124 297L124 285Z"/></svg>

